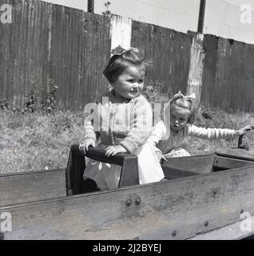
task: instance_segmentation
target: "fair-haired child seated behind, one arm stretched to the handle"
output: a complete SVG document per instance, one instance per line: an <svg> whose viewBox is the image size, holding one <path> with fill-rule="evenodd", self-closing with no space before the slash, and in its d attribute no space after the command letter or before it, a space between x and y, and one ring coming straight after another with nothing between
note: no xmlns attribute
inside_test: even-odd
<svg viewBox="0 0 254 256"><path fill-rule="evenodd" d="M195 110L193 100L195 95L184 96L181 91L173 96L169 106L165 109L165 122L157 122L146 142L153 145L159 160L173 157L189 156L184 149L177 149L186 136L197 138L220 139L234 138L252 130L252 126L245 126L240 130L200 128L193 126Z"/></svg>

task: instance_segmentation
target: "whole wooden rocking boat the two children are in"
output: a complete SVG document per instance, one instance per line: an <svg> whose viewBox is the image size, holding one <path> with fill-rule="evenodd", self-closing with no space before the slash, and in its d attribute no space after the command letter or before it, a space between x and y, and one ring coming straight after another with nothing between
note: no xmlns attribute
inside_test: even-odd
<svg viewBox="0 0 254 256"><path fill-rule="evenodd" d="M87 157L122 166L119 188L88 191L84 154L72 146L64 170L0 175L2 239L242 239L242 214L254 213L254 154L227 150L172 158L167 180L138 184L137 157ZM248 219L254 223L254 218ZM1 222L4 219L0 220ZM254 226L254 224L253 224Z"/></svg>

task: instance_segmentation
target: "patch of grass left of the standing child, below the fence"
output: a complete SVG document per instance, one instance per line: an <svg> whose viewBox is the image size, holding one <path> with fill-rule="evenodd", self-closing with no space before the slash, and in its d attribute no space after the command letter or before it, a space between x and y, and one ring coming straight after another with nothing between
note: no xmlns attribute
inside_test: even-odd
<svg viewBox="0 0 254 256"><path fill-rule="evenodd" d="M0 111L0 173L65 168L83 134L81 113Z"/></svg>

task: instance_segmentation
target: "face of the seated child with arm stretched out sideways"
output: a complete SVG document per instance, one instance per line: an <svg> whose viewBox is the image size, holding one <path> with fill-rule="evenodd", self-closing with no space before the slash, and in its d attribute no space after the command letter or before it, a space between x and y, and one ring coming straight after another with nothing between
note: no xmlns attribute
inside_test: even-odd
<svg viewBox="0 0 254 256"><path fill-rule="evenodd" d="M173 104L170 111L170 126L172 130L181 130L188 124L190 110Z"/></svg>

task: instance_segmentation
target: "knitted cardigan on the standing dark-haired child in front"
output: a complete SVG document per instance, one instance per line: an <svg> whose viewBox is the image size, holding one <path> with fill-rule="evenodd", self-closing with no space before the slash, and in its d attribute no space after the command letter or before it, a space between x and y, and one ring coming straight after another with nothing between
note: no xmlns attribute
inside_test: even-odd
<svg viewBox="0 0 254 256"><path fill-rule="evenodd" d="M148 138L153 125L153 111L144 96L133 99L116 97L109 90L97 101L93 114L85 120L84 139L92 138L108 145L121 145L133 153ZM93 118L91 122L87 122Z"/></svg>

